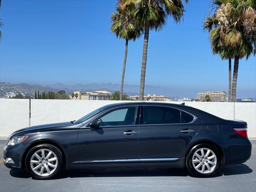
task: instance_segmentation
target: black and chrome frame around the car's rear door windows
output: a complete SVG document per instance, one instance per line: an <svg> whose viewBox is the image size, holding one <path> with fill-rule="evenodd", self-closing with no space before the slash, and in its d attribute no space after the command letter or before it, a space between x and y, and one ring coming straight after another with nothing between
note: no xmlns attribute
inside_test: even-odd
<svg viewBox="0 0 256 192"><path fill-rule="evenodd" d="M163 124L143 124L143 110L144 110L144 106L150 106L150 107L168 107L168 108L173 108L173 109L177 109L180 110L180 123L163 123ZM193 117L193 120L191 122L188 123L182 123L182 117L181 117L181 112L185 112L189 115L191 115ZM184 111L182 109L179 108L175 108L175 107L170 107L170 106L161 106L161 105L142 105L141 109L140 109L140 126L148 126L148 125L180 125L180 124L191 124L194 123L196 120L198 119L197 116L195 116L194 114L191 114L190 112Z"/></svg>

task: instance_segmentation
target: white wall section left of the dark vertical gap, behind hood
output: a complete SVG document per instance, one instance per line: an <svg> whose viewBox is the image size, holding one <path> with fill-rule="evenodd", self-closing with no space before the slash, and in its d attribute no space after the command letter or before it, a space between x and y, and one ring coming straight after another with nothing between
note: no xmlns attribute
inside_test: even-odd
<svg viewBox="0 0 256 192"><path fill-rule="evenodd" d="M29 126L29 99L0 99L0 137Z"/></svg>

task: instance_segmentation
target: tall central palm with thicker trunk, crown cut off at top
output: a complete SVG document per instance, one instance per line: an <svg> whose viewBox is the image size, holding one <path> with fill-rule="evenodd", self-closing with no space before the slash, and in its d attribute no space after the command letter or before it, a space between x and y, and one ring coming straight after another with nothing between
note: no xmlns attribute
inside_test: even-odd
<svg viewBox="0 0 256 192"><path fill-rule="evenodd" d="M188 2L188 0L186 0ZM160 31L166 24L168 16L180 22L184 6L182 0L118 0L118 6L124 9L126 6L135 6L134 22L144 29L144 43L142 65L140 75L140 100L143 100L146 63L148 53L148 38L150 29Z"/></svg>

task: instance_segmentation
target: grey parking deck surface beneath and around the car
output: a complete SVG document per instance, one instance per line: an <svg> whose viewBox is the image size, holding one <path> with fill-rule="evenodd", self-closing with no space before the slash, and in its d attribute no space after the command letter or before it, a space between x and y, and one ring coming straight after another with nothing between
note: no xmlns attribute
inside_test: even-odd
<svg viewBox="0 0 256 192"><path fill-rule="evenodd" d="M194 178L186 170L72 170L54 180L35 180L25 170L0 163L1 192L255 192L256 144L243 164L222 166L213 178ZM0 142L2 158L3 142ZM238 154L239 155L239 154Z"/></svg>

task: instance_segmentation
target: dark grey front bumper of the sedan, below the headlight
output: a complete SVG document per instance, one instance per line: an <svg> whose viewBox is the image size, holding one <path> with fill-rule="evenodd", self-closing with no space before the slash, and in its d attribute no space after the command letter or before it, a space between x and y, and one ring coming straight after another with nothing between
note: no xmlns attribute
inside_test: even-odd
<svg viewBox="0 0 256 192"><path fill-rule="evenodd" d="M22 167L22 154L25 150L25 146L20 143L13 146L5 146L4 147L4 165L7 168L21 168ZM8 158L11 158L10 161ZM9 161L8 161L9 160Z"/></svg>

